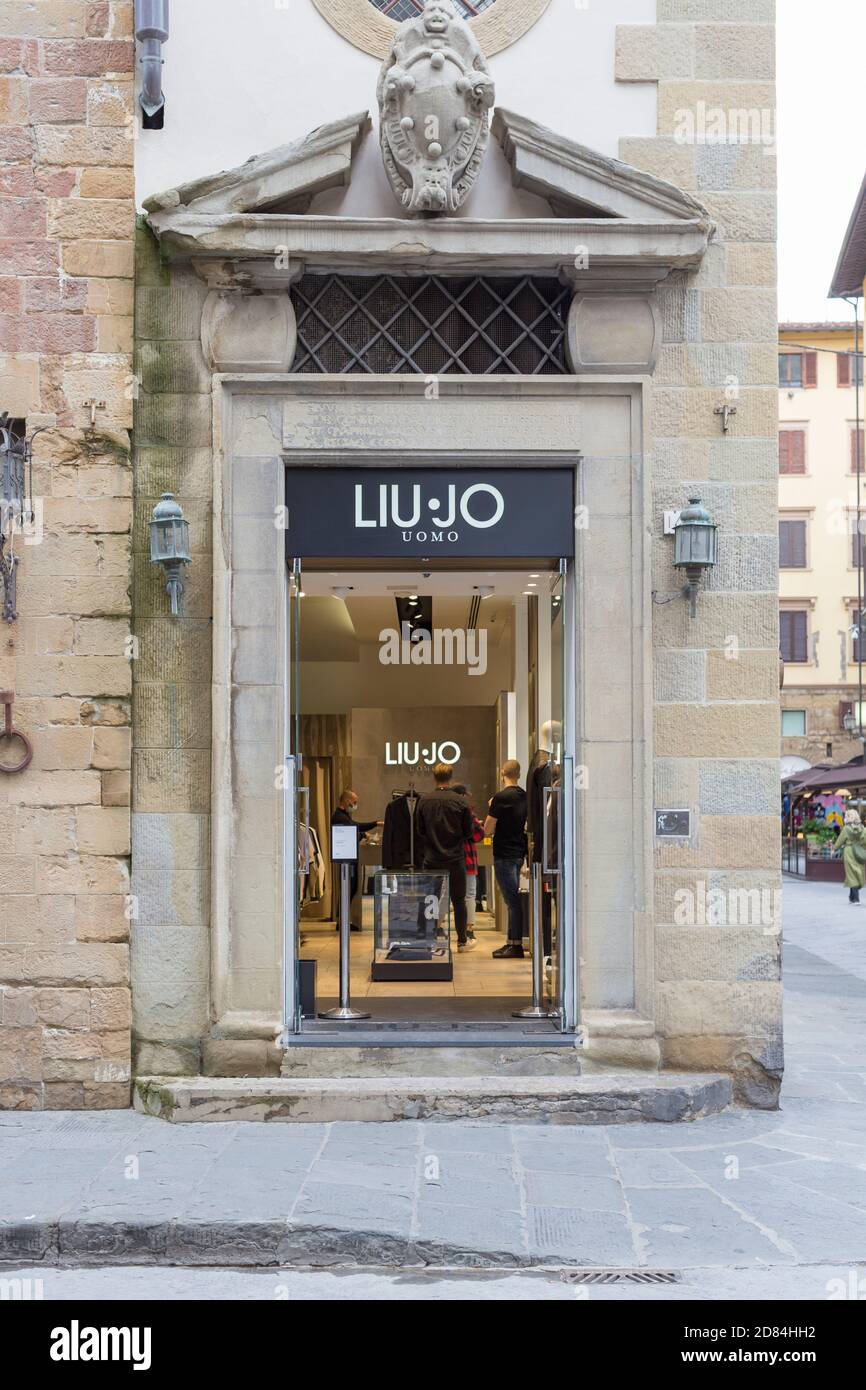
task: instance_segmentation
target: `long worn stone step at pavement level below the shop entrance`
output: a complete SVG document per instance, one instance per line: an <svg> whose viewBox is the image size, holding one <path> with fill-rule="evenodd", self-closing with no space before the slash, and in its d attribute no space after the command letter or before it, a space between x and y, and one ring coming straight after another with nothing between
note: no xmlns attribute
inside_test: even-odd
<svg viewBox="0 0 866 1390"><path fill-rule="evenodd" d="M203 1120L510 1120L623 1125L694 1120L731 1104L713 1073L605 1076L136 1077L135 1108Z"/></svg>

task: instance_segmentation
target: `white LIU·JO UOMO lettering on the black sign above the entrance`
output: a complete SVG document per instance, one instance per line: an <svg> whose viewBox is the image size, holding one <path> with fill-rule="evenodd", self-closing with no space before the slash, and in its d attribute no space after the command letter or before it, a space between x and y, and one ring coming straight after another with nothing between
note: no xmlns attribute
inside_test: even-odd
<svg viewBox="0 0 866 1390"><path fill-rule="evenodd" d="M473 482L460 491L455 482L430 489L423 482L354 484L356 531L393 528L407 545L453 545L461 525L489 531L503 516L505 498L492 482Z"/></svg>

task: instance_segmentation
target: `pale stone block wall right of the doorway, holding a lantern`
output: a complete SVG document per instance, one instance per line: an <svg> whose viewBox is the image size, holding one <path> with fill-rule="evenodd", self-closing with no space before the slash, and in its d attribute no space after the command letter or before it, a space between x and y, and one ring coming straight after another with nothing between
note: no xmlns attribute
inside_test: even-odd
<svg viewBox="0 0 866 1390"><path fill-rule="evenodd" d="M659 291L656 595L676 589L662 514L684 493L723 539L698 619L655 609L655 805L692 810L688 844L656 845L657 1033L666 1065L731 1070L756 1105L774 1104L783 1068L778 923L744 930L728 912L712 926L688 906L778 881L776 152L701 139L716 111L771 132L773 19L773 0L659 0L655 26L617 31L616 56L619 81L659 88L657 135L623 139L621 157L694 193L717 225L701 271ZM726 396L730 434L713 414Z"/></svg>

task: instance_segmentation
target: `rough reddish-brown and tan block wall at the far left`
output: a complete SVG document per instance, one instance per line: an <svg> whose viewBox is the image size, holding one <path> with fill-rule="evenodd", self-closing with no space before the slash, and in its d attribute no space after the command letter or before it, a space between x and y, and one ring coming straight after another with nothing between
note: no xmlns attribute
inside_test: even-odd
<svg viewBox="0 0 866 1390"><path fill-rule="evenodd" d="M132 4L0 4L0 409L35 543L0 689L0 1108L129 1104ZM93 410L86 402L99 402Z"/></svg>

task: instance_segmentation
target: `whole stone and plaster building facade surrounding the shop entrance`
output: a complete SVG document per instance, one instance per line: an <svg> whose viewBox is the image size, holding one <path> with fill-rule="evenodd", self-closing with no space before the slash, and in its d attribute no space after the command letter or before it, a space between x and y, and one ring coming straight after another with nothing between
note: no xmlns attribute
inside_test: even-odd
<svg viewBox="0 0 866 1390"><path fill-rule="evenodd" d="M496 83L489 147L453 215L423 220L405 217L375 132L389 8L175 6L164 124L142 129L132 6L0 6L6 228L33 278L29 307L17 277L4 291L0 404L53 430L7 676L38 759L0 778L15 827L3 1104L128 1102L128 917L136 1077L285 1065L274 507L286 466L411 468L432 450L456 468L580 455L592 524L575 538L569 701L591 777L570 960L595 1059L721 1070L774 1105L777 923L678 910L778 885L773 0L491 0L473 21ZM434 399L411 354L398 370L361 343L336 366L295 353L317 278L345 293L346 277L485 274L564 293L559 356L456 361ZM46 310L53 295L75 307ZM190 523L179 619L147 553L164 491ZM695 617L666 530L689 496L720 530Z"/></svg>

